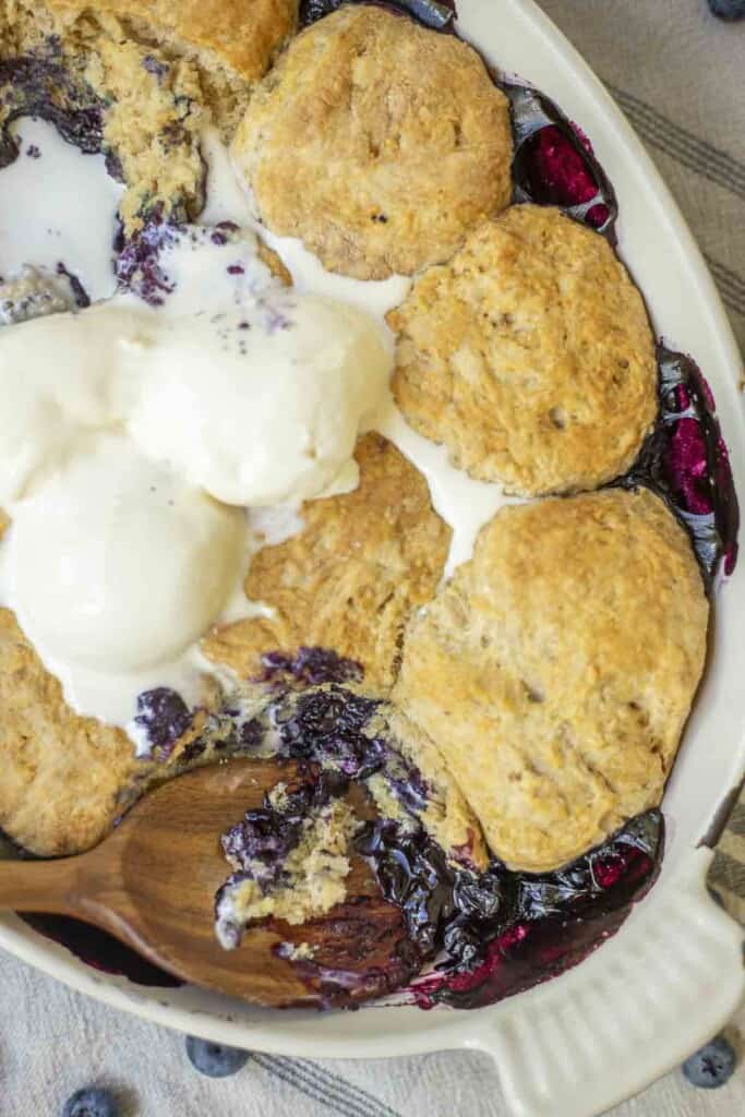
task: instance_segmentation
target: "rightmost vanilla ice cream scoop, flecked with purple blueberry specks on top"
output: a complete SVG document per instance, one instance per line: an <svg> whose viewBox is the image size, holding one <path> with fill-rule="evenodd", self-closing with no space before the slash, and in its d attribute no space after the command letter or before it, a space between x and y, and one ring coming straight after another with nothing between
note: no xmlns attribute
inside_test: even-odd
<svg viewBox="0 0 745 1117"><path fill-rule="evenodd" d="M380 328L333 299L270 290L221 314L164 321L142 354L127 429L219 500L318 496L348 465L388 385Z"/></svg>

